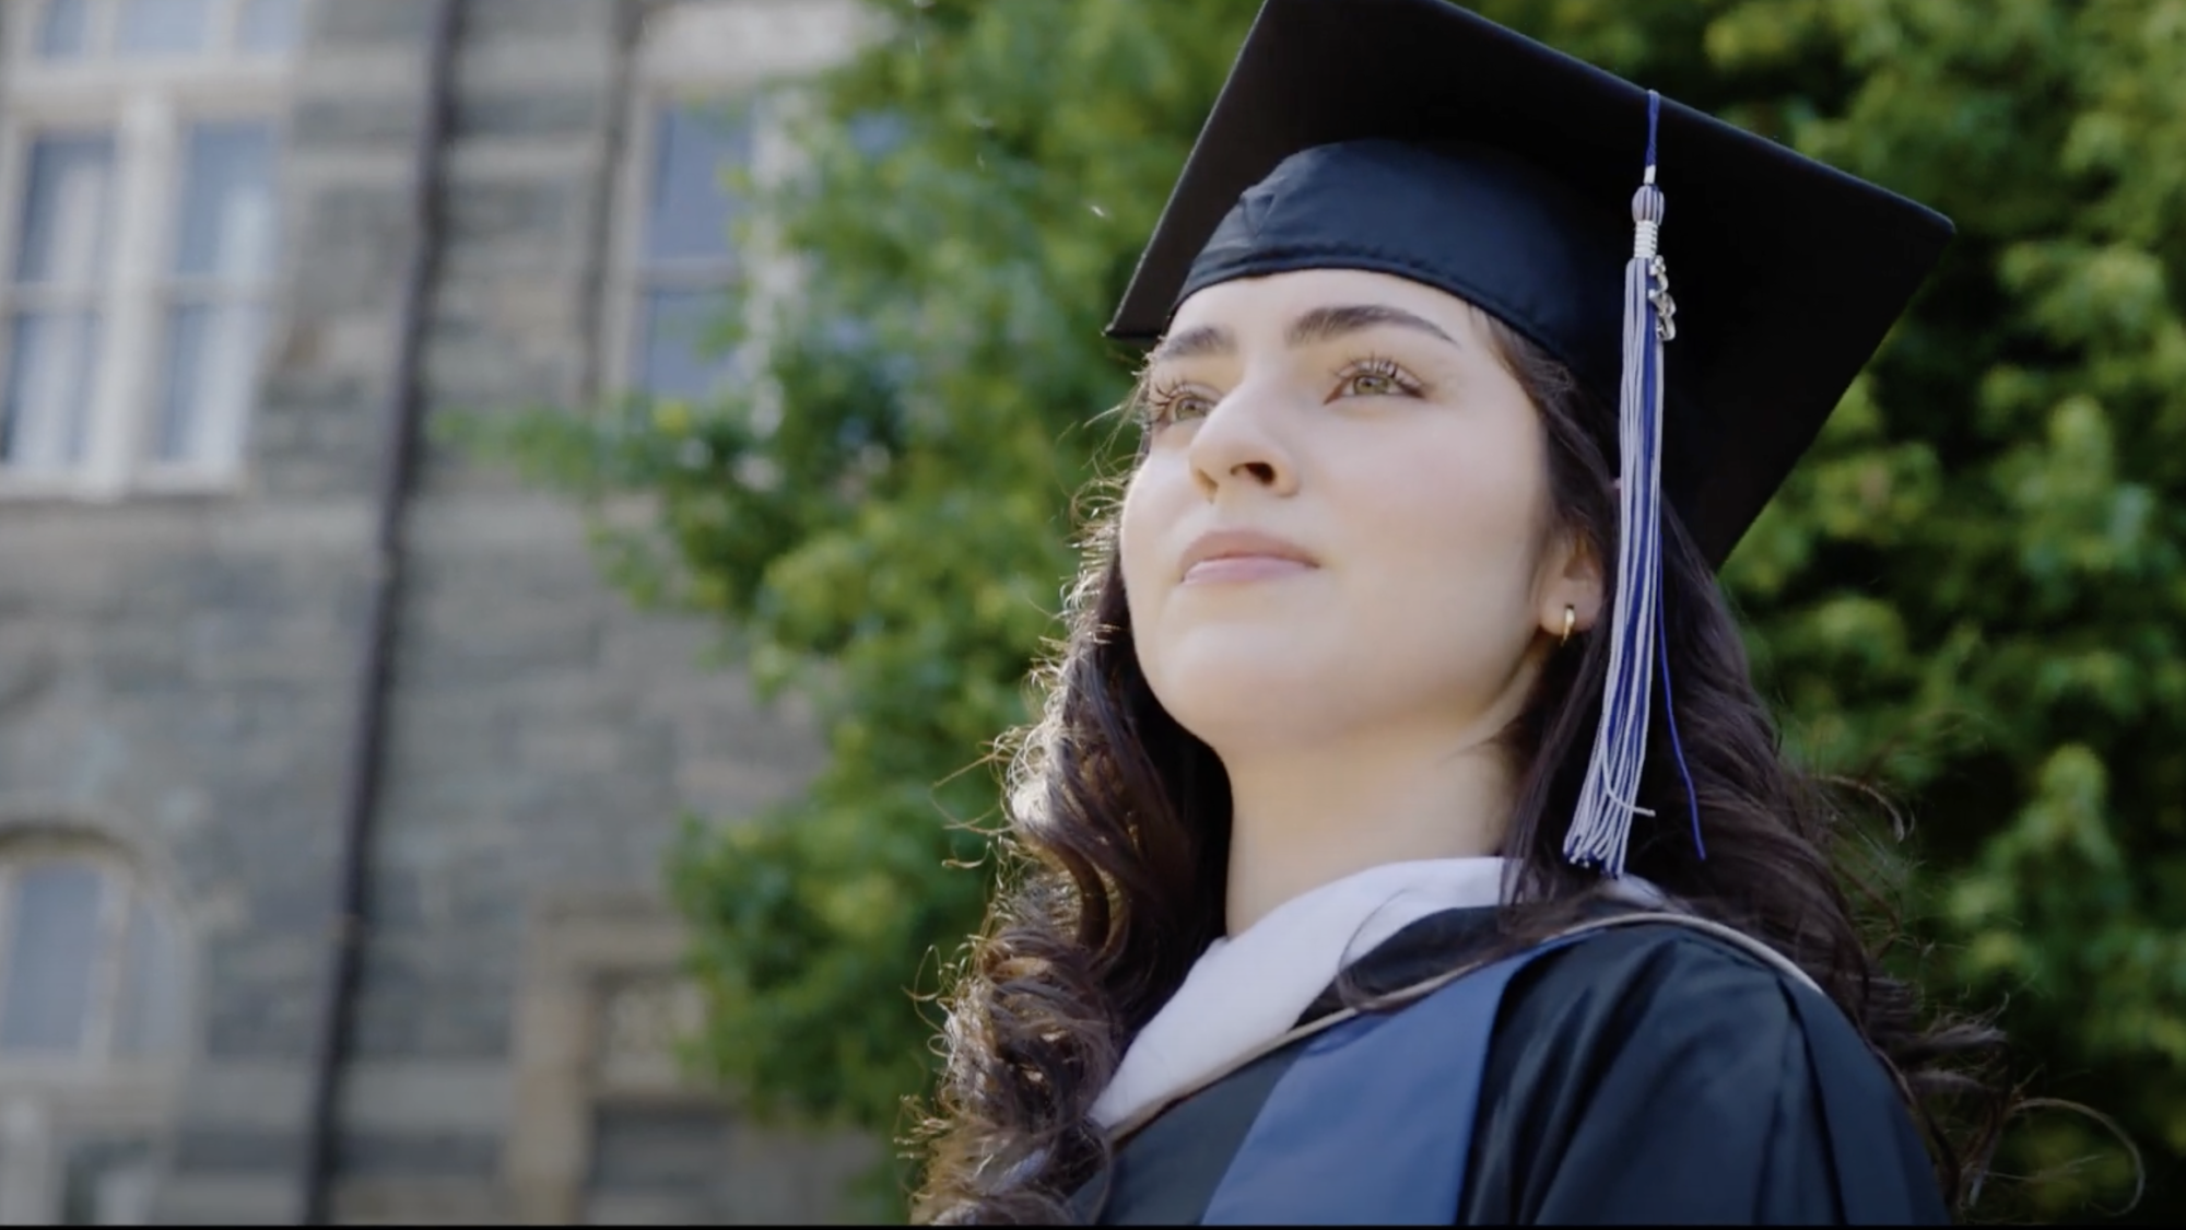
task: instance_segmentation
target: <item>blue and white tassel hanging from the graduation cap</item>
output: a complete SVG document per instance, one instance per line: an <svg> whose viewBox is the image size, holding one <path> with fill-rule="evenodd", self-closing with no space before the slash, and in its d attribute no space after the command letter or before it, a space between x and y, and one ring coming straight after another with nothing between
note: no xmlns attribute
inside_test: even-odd
<svg viewBox="0 0 2186 1230"><path fill-rule="evenodd" d="M1640 779L1646 773L1646 733L1659 661L1661 703L1685 799L1692 840L1701 843L1701 808L1685 768L1670 707L1670 654L1661 646L1661 344L1677 337L1677 304L1664 265L1664 197L1655 186L1655 129L1661 96L1646 96L1646 175L1633 195L1633 258L1624 263L1624 383L1618 390L1620 525L1618 591L1609 619L1609 681L1602 687L1602 724L1594 733L1578 812L1563 838L1563 856L1580 867L1624 875ZM1701 849L1705 858L1705 849Z"/></svg>

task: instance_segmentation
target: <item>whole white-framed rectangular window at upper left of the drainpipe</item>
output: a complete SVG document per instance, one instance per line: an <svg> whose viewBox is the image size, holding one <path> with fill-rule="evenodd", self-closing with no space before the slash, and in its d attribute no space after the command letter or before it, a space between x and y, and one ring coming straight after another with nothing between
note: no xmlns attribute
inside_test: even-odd
<svg viewBox="0 0 2186 1230"><path fill-rule="evenodd" d="M0 88L0 495L234 481L304 0L17 0Z"/></svg>

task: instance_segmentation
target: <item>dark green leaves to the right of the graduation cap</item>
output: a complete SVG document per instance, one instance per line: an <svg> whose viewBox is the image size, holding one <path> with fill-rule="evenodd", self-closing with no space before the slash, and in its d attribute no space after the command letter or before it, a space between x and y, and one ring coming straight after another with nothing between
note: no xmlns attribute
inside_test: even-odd
<svg viewBox="0 0 2186 1230"><path fill-rule="evenodd" d="M2186 1140L2186 250L2158 142L2186 101L2182 13L1755 2L1709 39L1838 57L1854 74L1795 142L1961 223L1727 582L1806 751L1884 768L1919 819L1915 884L1963 980L1937 989L2009 996L2022 1057L2075 1072L2064 1092L2118 1114L2158 1177ZM2061 1167L2042 1212L2129 1182L2070 1116L2013 1149ZM2175 1199L2158 1184L2147 1215Z"/></svg>

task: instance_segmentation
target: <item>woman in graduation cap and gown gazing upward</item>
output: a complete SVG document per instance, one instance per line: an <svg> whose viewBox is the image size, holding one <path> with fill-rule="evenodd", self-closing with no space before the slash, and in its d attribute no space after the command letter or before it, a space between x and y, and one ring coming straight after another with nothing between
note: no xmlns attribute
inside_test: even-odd
<svg viewBox="0 0 2186 1230"><path fill-rule="evenodd" d="M1946 239L1443 0L1270 0L1110 328L920 1215L1946 1219L1994 1037L1862 948L1712 578Z"/></svg>

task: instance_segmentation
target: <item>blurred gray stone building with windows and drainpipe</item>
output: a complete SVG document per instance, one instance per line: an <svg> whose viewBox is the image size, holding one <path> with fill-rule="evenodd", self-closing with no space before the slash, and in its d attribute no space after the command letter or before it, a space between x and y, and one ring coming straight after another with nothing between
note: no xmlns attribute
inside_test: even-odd
<svg viewBox="0 0 2186 1230"><path fill-rule="evenodd" d="M433 433L719 379L721 103L850 18L0 0L0 1223L820 1219L874 1158L667 1055L675 816L809 729Z"/></svg>

